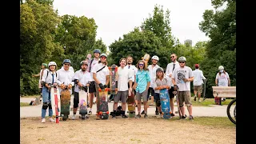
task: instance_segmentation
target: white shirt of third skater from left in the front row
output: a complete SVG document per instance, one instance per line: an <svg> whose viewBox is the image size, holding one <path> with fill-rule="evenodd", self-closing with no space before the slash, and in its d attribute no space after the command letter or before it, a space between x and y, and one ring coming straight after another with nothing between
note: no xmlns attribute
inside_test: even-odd
<svg viewBox="0 0 256 144"><path fill-rule="evenodd" d="M76 72L74 73L74 77L73 77L72 79L73 79L73 81L74 81L75 79L78 79L78 81L81 82L83 86L86 86L86 84L87 84L88 82L91 82L90 72L88 72L88 71L86 70L86 72L83 73L82 70L80 69L80 70L78 70L78 71L76 71ZM78 85L75 85L75 86L74 86L74 91L78 93L79 90L80 90L80 89L79 89L79 86L78 86Z"/></svg>

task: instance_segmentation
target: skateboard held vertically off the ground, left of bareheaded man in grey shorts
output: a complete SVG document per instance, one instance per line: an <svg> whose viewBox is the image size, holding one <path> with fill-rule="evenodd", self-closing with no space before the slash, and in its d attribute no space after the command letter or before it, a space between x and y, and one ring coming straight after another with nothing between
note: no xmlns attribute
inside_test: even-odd
<svg viewBox="0 0 256 144"><path fill-rule="evenodd" d="M112 66L109 67L109 70L110 70L110 94L117 94L117 90L115 90L117 87L115 76L118 72L118 66L113 64Z"/></svg>

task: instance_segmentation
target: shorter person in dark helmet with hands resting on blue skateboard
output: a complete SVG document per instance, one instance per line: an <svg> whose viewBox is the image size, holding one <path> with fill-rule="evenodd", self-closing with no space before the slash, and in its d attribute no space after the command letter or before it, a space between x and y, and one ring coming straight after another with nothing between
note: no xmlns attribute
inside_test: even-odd
<svg viewBox="0 0 256 144"><path fill-rule="evenodd" d="M162 89L170 89L170 78L167 78L164 74L162 67L159 67L156 70L156 77L153 81L153 88L154 88L154 99L156 102L156 106L158 111L162 117L162 110L161 110L161 102L160 102L160 90Z"/></svg>

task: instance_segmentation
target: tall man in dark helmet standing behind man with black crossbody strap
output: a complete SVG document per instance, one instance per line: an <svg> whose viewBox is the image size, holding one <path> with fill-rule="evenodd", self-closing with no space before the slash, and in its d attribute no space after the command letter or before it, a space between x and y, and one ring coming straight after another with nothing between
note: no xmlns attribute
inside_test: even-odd
<svg viewBox="0 0 256 144"><path fill-rule="evenodd" d="M94 50L94 58L90 61L90 64L87 67L87 69L89 69L90 76L91 76L91 82L90 82L90 86L89 86L89 106L90 106L90 110L88 112L88 115L92 114L92 108L93 108L93 104L94 104L94 95L95 95L94 93L96 92L92 70L93 70L94 66L98 63L98 61L100 60L100 58L99 58L100 54L101 54L101 50L95 49Z"/></svg>

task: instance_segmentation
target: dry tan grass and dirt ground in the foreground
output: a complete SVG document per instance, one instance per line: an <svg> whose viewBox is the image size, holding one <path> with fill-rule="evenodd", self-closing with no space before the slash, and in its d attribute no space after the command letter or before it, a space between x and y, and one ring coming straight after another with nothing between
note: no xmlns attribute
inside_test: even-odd
<svg viewBox="0 0 256 144"><path fill-rule="evenodd" d="M196 119L195 119L196 120ZM195 121L194 120L194 121ZM41 118L22 118L20 143L218 143L235 144L236 129L202 126L188 119L109 118L41 123Z"/></svg>

